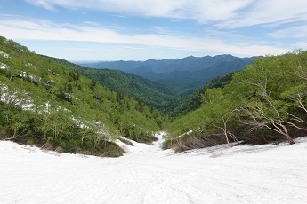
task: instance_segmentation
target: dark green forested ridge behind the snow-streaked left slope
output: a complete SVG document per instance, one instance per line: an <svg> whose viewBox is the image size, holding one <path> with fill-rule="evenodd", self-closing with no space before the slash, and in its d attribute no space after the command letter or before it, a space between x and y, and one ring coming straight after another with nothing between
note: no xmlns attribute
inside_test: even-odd
<svg viewBox="0 0 307 204"><path fill-rule="evenodd" d="M44 57L53 59L57 63L99 82L101 85L108 87L109 90L125 93L151 106L162 108L180 98L178 91L173 88L159 82L150 81L139 75L118 70L86 68L64 59Z"/></svg>

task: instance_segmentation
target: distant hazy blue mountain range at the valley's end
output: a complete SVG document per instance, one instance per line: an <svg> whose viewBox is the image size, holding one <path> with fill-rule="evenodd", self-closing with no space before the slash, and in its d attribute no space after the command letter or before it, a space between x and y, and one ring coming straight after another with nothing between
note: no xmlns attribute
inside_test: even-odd
<svg viewBox="0 0 307 204"><path fill-rule="evenodd" d="M183 59L149 59L146 61L113 61L79 63L85 67L117 69L141 75L156 82L163 82L182 92L197 90L217 76L242 70L254 59L238 58L232 55L214 57L187 57Z"/></svg>

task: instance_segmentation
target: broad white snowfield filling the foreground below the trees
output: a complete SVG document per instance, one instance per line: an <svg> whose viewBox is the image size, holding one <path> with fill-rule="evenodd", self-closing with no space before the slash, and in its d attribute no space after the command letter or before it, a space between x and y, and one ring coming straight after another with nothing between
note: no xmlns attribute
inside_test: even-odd
<svg viewBox="0 0 307 204"><path fill-rule="evenodd" d="M180 154L160 143L98 158L0 141L0 203L307 203L307 137Z"/></svg>

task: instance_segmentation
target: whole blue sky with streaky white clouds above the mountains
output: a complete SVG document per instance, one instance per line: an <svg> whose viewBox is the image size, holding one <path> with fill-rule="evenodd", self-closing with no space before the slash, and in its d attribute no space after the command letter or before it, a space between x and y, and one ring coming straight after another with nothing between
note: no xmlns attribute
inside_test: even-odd
<svg viewBox="0 0 307 204"><path fill-rule="evenodd" d="M0 35L76 60L276 55L307 48L306 0L0 0Z"/></svg>

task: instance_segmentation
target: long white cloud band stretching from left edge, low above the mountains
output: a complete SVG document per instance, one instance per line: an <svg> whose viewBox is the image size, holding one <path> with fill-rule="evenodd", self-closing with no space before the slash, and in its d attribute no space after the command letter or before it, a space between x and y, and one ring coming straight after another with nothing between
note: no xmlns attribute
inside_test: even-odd
<svg viewBox="0 0 307 204"><path fill-rule="evenodd" d="M230 44L217 38L187 37L172 34L125 35L117 29L96 27L88 23L83 25L54 24L47 20L18 20L15 17L11 19L9 17L1 18L0 16L0 30L2 31L1 35L15 40L122 43L175 50L231 53L239 56L281 54L288 51L287 49L252 43Z"/></svg>

